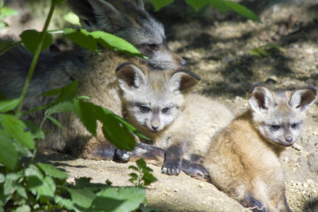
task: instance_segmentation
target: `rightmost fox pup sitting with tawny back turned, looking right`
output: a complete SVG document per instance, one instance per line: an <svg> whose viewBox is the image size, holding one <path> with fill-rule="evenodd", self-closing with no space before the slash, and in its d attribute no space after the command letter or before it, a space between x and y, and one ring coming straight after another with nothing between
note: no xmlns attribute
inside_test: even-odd
<svg viewBox="0 0 318 212"><path fill-rule="evenodd" d="M312 86L272 92L254 83L250 109L218 133L205 155L213 184L253 211L290 211L280 155L300 136L316 98Z"/></svg>

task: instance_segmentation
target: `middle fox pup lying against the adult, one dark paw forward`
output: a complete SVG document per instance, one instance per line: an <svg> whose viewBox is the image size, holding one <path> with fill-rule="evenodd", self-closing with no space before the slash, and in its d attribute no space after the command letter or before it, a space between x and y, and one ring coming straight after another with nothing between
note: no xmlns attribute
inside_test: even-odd
<svg viewBox="0 0 318 212"><path fill-rule="evenodd" d="M201 81L192 72L148 71L122 64L116 76L124 117L151 139L152 146L165 150L163 172L168 175L179 174L182 159L193 161L196 155L206 154L216 131L233 118L224 105L189 93Z"/></svg>

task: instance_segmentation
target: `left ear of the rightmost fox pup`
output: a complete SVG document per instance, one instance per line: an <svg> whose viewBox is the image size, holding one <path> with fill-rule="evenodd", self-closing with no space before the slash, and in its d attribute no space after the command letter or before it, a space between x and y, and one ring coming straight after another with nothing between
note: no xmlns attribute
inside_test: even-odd
<svg viewBox="0 0 318 212"><path fill-rule="evenodd" d="M271 91L265 88L262 83L253 83L247 94L247 99L254 112L264 112L275 105Z"/></svg>

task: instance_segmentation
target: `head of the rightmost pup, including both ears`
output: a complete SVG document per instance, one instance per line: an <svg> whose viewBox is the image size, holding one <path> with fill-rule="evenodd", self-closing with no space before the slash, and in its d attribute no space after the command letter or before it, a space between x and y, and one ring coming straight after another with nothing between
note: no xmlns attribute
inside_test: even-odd
<svg viewBox="0 0 318 212"><path fill-rule="evenodd" d="M269 142L292 146L302 131L306 110L316 98L317 88L314 86L271 92L260 83L254 83L248 95L253 124Z"/></svg>

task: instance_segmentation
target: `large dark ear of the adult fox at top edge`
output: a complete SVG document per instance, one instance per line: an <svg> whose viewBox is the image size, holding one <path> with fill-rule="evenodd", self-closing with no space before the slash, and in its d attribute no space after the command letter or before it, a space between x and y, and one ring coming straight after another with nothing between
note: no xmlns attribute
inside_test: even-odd
<svg viewBox="0 0 318 212"><path fill-rule="evenodd" d="M87 30L116 30L118 24L125 23L122 13L112 4L103 0L68 0L66 5L80 18L81 25Z"/></svg>

